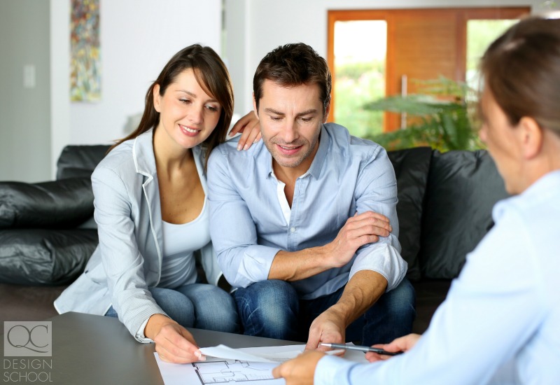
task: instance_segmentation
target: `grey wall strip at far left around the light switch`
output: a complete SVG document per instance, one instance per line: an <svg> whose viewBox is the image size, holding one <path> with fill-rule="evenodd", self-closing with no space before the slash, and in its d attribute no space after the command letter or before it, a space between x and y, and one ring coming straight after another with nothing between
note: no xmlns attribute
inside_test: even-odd
<svg viewBox="0 0 560 385"><path fill-rule="evenodd" d="M0 0L0 181L49 179L48 45L48 2Z"/></svg>

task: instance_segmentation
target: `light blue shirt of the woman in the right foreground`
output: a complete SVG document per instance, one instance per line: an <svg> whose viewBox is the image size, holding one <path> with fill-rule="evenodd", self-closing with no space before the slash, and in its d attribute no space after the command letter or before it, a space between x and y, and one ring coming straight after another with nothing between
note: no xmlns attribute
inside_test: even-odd
<svg viewBox="0 0 560 385"><path fill-rule="evenodd" d="M413 349L377 363L325 356L316 385L560 384L560 171L498 202Z"/></svg>

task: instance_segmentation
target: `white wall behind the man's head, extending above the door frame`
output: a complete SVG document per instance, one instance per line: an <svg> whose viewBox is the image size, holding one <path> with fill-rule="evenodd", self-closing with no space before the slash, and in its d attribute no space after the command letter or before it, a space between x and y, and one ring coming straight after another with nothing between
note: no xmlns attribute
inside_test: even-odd
<svg viewBox="0 0 560 385"><path fill-rule="evenodd" d="M236 73L236 112L251 109L253 73L267 52L278 45L303 42L327 57L327 11L335 9L451 8L531 6L543 0L225 0L226 11L238 15L226 20L229 41L244 37L244 45L228 46L230 71ZM229 43L228 43L229 44ZM237 52L237 54L236 54ZM243 78L239 78L243 76Z"/></svg>

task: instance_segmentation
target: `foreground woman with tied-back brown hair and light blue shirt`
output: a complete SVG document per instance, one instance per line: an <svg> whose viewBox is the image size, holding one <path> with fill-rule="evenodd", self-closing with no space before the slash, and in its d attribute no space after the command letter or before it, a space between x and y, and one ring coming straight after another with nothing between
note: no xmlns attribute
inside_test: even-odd
<svg viewBox="0 0 560 385"><path fill-rule="evenodd" d="M560 20L527 18L482 58L481 139L514 195L422 336L373 363L309 351L286 384L560 384Z"/></svg>

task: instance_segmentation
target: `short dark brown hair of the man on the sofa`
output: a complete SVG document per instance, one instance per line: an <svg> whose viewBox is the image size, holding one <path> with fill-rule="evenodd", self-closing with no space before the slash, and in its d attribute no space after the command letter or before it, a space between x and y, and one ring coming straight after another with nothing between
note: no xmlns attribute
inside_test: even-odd
<svg viewBox="0 0 560 385"><path fill-rule="evenodd" d="M257 109L265 80L272 80L284 87L302 84L318 85L319 98L323 103L323 115L325 114L330 102L330 71L326 60L309 45L304 43L280 45L262 58L253 77L253 93Z"/></svg>

